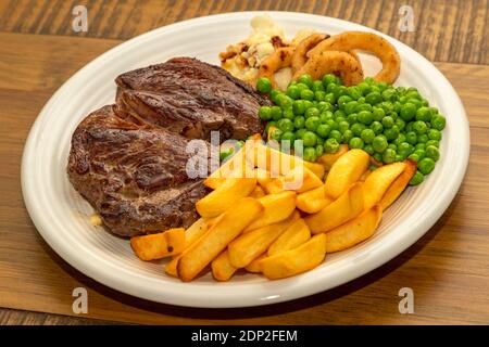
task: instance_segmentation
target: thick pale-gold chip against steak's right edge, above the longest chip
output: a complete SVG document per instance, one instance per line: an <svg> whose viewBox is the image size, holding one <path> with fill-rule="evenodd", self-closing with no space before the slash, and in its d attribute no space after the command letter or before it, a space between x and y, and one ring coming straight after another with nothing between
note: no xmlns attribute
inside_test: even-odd
<svg viewBox="0 0 489 347"><path fill-rule="evenodd" d="M204 218L223 214L241 197L248 196L256 187L256 178L228 178L214 191L196 203L197 211Z"/></svg>

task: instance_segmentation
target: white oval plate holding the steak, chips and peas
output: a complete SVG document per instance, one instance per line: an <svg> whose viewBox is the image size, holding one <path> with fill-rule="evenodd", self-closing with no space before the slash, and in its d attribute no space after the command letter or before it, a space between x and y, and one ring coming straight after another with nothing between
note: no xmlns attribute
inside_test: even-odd
<svg viewBox="0 0 489 347"><path fill-rule="evenodd" d="M337 34L368 30L358 24L301 13L268 12L292 37L301 28ZM385 214L368 241L328 255L322 266L294 278L267 281L237 275L217 283L210 274L191 283L167 277L162 262L137 259L126 240L92 227L91 207L66 178L72 132L90 112L112 103L114 78L124 72L188 55L218 64L217 53L250 33L260 12L214 15L177 23L134 38L76 73L46 104L30 130L22 163L22 188L42 237L73 267L117 291L141 298L193 307L243 307L286 301L329 290L390 260L418 240L454 197L468 160L469 132L463 105L450 82L426 59L385 36L402 57L398 85L414 86L447 117L441 159L425 183L408 189ZM379 34L379 33L377 33ZM378 68L363 56L366 70Z"/></svg>

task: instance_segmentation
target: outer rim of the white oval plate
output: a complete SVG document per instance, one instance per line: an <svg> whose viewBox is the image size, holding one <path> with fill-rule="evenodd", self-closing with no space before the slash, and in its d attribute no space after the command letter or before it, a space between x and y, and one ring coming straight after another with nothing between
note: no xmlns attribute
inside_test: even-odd
<svg viewBox="0 0 489 347"><path fill-rule="evenodd" d="M229 298L225 298L222 301L214 301L214 300L189 300L188 297L180 297L179 299L175 299L173 297L171 300L166 297L162 297L161 295L156 295L158 293L150 293L151 291L145 291L141 293L140 287L135 285L135 283L127 284L126 281L121 281L121 279L117 278L116 274L108 273L106 271L103 271L99 269L96 265L90 265L88 261L84 262L80 261L80 257L75 256L73 253L67 252L67 249L64 248L62 244L55 237L47 230L49 228L49 224L46 224L46 221L42 219L42 216L39 216L39 211L37 210L37 207L34 206L34 201L32 201L29 194L29 184L30 182L30 172L29 172L29 163L32 160L32 154L35 152L33 151L33 145L35 143L34 138L38 134L38 130L40 127L42 115L46 114L49 110L49 107L54 104L54 102L62 95L62 93L68 88L70 82L72 80L75 80L77 76L83 74L84 70L90 68L91 65L95 65L98 62L102 62L105 60L110 54L114 54L117 51L124 50L125 48L128 48L131 46L131 43L136 40L143 40L145 38L151 37L153 35L159 35L161 31L165 30L178 30L180 27L185 27L187 25L197 24L199 22L208 22L209 18L216 18L216 17L251 17L254 15L261 15L261 14L269 14L274 20L287 20L293 16L297 17L319 17L325 21L333 21L338 24L348 25L348 26L354 26L362 30L367 30L371 33L376 33L381 35L383 37L388 38L389 40L396 42L397 44L400 44L403 47L403 49L408 49L408 51L411 51L411 54L415 54L417 59L424 60L425 63L430 65L430 69L432 73L437 74L439 78L442 79L446 87L449 87L450 94L453 97L452 102L456 104L459 107L460 116L464 118L466 124L466 129L463 129L466 134L466 141L465 141L465 151L462 153L461 157L461 164L457 166L456 172L454 172L454 181L456 189L450 189L446 190L446 196L443 201L438 205L438 208L430 213L429 218L426 218L424 220L423 226L418 226L415 232L408 233L406 235L398 237L396 241L399 242L399 245L393 244L384 244L381 249L381 253L377 253L375 257L369 257L367 259L367 264L362 264L362 267L355 266L352 269L350 269L349 275L347 279L344 275L339 279L339 275L336 278L335 281L330 281L329 285L321 285L315 284L313 288L309 288L306 291L302 291L298 293L299 291L296 291L296 294L289 294L289 293L280 293L280 295L277 295L276 297L260 297L259 295L248 295L246 297L240 297L238 301L233 301ZM446 90L443 90L446 91ZM456 195L457 191L460 190L460 187L462 184L463 178L466 172L466 168L468 165L468 157L469 157L469 128L468 128L468 119L466 116L465 108L460 100L459 94L456 93L453 86L450 83L450 81L443 76L443 74L426 57L424 57L421 53L414 51L409 46L404 44L403 42L386 35L380 31L377 31L375 29L365 27L363 25L352 23L344 20L323 16L323 15L316 15L316 14L309 14L309 13L301 13L301 12L286 12L286 11L244 11L244 12L229 12L229 13L222 13L222 14L214 14L214 15L208 15L208 16L200 16L196 18L190 18L183 22L177 22L174 24L170 24L163 27L155 28L153 30L150 30L148 33L141 34L139 36L136 36L125 42L122 42L121 44L117 44L113 47L112 49L103 52L89 63L87 63L84 67L82 67L79 70L77 70L75 74L73 74L50 98L50 100L45 104L38 116L36 117L36 120L34 121L27 140L25 142L24 151L23 151L23 157L22 157L22 168L21 168L21 183L22 183L22 193L24 197L24 203L26 205L27 211L30 216L30 219L33 220L33 223L35 224L37 231L41 234L42 239L49 244L49 246L59 254L66 262L68 262L71 266L73 266L75 269L84 273L85 275L96 280L97 282L102 283L103 285L106 285L111 288L114 288L118 292L129 294L136 297L140 297L143 299L158 301L158 303L164 303L168 305L176 305L176 306L186 306L186 307L201 307L201 308L230 308L230 307L251 307L251 306L261 306L261 305L269 305L269 304L276 304L280 301L288 301L292 299L297 299L300 297L310 296L319 292L324 292L327 290L330 290L333 287L336 287L340 284L350 282L351 280L354 280L365 273L371 272L372 270L376 269L383 264L388 262L399 254L401 254L403 250L408 249L412 244L414 244L421 236L423 236L434 224L435 222L441 217L441 215L444 213L444 210L448 208L448 206L451 204L452 200ZM453 187L455 187L453 185ZM402 242L401 242L402 241ZM391 242L392 243L392 242ZM280 292L280 291L276 291Z"/></svg>

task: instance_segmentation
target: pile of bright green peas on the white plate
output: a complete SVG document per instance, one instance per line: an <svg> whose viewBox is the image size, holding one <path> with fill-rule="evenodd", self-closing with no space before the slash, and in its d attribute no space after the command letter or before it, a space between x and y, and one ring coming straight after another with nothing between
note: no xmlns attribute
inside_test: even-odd
<svg viewBox="0 0 489 347"><path fill-rule="evenodd" d="M256 90L268 94L275 104L262 106L259 112L267 131L276 127L271 138L289 140L291 145L302 140L305 160L336 153L346 143L350 149L365 151L378 163L415 160L417 172L410 184L416 185L440 158L446 118L416 88L396 88L373 78L346 87L339 77L328 74L322 80L302 75L286 92L272 89L267 78L260 78Z"/></svg>

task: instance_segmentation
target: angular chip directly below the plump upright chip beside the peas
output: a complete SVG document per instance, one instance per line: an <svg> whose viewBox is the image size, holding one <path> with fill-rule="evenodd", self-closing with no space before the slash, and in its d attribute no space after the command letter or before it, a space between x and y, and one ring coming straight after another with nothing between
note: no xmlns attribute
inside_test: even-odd
<svg viewBox="0 0 489 347"><path fill-rule="evenodd" d="M331 204L317 214L305 217L304 220L311 232L317 234L355 218L362 213L363 206L362 183L355 183Z"/></svg>

